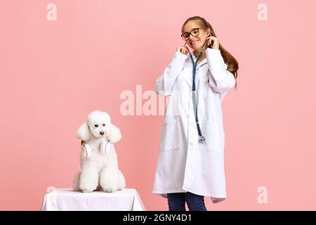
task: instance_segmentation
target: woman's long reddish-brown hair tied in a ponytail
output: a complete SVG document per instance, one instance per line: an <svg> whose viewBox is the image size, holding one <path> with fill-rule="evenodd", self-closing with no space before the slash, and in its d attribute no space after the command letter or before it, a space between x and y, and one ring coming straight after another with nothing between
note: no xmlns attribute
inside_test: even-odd
<svg viewBox="0 0 316 225"><path fill-rule="evenodd" d="M182 25L181 32L183 32L183 27L192 20L199 20L204 30L207 30L207 28L209 28L211 30L212 36L216 37L216 34L211 24L209 24L209 22L207 22L204 18L199 17L199 16L193 16L185 20L185 23L183 23ZM211 48L210 45L208 47ZM223 56L224 62L228 65L228 71L231 72L232 75L234 75L235 79L237 79L237 76L238 76L237 70L239 68L237 60L235 59L234 56L232 56L232 54L230 54L226 49L224 49L224 47L221 44L219 46L219 50L220 50L220 54ZM237 88L237 81L235 84L235 89L236 88Z"/></svg>

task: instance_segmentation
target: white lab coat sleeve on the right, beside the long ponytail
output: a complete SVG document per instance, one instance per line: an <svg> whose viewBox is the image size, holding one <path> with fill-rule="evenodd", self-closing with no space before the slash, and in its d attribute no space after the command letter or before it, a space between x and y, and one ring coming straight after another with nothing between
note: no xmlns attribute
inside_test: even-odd
<svg viewBox="0 0 316 225"><path fill-rule="evenodd" d="M235 86L236 80L234 75L227 70L223 56L219 49L206 49L206 60L211 71L209 77L209 86L213 91L224 93Z"/></svg>

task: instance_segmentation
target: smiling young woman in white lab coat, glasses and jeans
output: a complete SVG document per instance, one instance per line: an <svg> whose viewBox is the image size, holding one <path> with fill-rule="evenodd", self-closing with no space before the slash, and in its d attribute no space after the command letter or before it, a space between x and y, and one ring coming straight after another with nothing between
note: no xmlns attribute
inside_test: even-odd
<svg viewBox="0 0 316 225"><path fill-rule="evenodd" d="M185 46L156 81L169 103L153 193L167 198L169 210L185 210L186 202L189 210L206 211L204 196L213 203L226 198L221 103L236 87L238 63L204 18L188 18L181 37Z"/></svg>

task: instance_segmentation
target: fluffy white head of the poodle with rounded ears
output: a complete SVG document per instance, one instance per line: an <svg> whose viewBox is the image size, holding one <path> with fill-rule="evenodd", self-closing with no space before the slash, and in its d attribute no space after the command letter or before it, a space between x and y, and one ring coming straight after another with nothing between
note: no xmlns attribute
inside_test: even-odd
<svg viewBox="0 0 316 225"><path fill-rule="evenodd" d="M107 139L115 143L121 139L119 128L111 124L110 115L100 110L94 110L88 115L87 122L81 124L77 131L77 138L81 141L89 141L90 139Z"/></svg>

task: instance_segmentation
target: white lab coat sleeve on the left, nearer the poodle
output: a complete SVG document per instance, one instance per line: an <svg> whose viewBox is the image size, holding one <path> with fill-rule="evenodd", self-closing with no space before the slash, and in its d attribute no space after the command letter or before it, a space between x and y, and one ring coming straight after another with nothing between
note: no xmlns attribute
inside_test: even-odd
<svg viewBox="0 0 316 225"><path fill-rule="evenodd" d="M176 52L171 63L164 69L164 73L156 80L156 93L162 96L171 94L173 83L183 70L187 56L183 53Z"/></svg>

